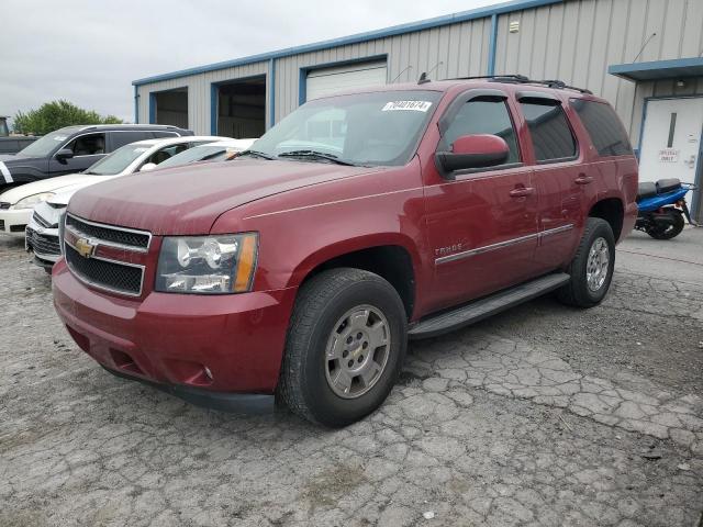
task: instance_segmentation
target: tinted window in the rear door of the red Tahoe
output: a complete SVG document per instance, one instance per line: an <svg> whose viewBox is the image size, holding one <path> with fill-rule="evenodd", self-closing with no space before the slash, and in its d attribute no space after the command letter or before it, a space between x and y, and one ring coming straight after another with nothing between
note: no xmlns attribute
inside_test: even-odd
<svg viewBox="0 0 703 527"><path fill-rule="evenodd" d="M537 162L570 159L577 154L576 139L561 105L521 102Z"/></svg>

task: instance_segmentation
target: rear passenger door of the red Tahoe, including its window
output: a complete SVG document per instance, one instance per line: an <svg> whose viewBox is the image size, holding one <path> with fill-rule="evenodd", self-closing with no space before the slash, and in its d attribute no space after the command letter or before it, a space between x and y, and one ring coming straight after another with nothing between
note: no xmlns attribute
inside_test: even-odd
<svg viewBox="0 0 703 527"><path fill-rule="evenodd" d="M534 264L542 273L571 258L588 213L583 210L589 202L588 183L594 178L563 102L553 93L532 90L518 92L516 99L527 128L525 154L534 164L532 181L539 200Z"/></svg>

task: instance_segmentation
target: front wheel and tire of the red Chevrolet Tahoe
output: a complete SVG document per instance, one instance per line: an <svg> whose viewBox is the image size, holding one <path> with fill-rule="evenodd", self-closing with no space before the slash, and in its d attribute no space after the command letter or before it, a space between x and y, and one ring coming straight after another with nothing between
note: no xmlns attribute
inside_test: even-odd
<svg viewBox="0 0 703 527"><path fill-rule="evenodd" d="M390 283L359 269L323 271L295 300L278 395L313 423L349 425L386 400L406 343L405 310Z"/></svg>

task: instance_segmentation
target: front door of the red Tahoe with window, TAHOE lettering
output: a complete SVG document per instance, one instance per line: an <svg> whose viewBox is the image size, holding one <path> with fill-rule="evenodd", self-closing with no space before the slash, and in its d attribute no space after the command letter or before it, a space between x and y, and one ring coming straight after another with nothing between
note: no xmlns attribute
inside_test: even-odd
<svg viewBox="0 0 703 527"><path fill-rule="evenodd" d="M533 273L537 243L537 195L525 166L507 96L469 90L439 120L438 150L459 136L493 134L505 139L504 165L438 177L427 167L425 200L428 244L434 251L431 309L476 299Z"/></svg>

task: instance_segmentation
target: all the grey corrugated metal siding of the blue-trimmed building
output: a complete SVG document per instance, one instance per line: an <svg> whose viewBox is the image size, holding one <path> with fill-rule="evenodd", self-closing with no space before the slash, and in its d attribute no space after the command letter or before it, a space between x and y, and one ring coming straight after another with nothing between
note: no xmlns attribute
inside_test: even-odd
<svg viewBox="0 0 703 527"><path fill-rule="evenodd" d="M509 33L511 21L520 22L520 32ZM496 74L557 78L591 89L613 103L634 145L639 142L646 97L703 91L703 79L677 88L673 81L636 85L607 74L610 65L635 61L638 54L638 61L699 56L703 52L703 0L567 0L502 14L498 26ZM395 77L397 82L413 81L433 67L434 79L484 75L490 32L491 19L483 18L278 58L275 119L279 121L298 106L301 68L387 56L389 82ZM652 33L656 36L645 45ZM268 61L260 61L140 86L140 122L148 121L150 91L187 86L189 127L209 134L210 83L267 70ZM270 89L267 86L267 123Z"/></svg>

